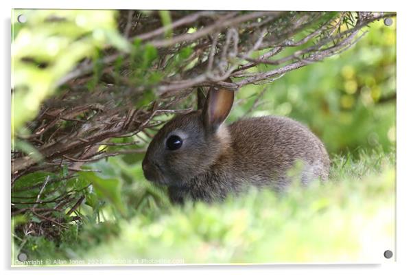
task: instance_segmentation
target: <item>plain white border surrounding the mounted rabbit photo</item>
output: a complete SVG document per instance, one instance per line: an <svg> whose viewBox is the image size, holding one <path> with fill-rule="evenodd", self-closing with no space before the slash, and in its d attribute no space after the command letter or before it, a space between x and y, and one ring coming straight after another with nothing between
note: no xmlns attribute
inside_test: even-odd
<svg viewBox="0 0 413 276"><path fill-rule="evenodd" d="M408 1L405 1L408 3ZM12 8L69 8L69 9L176 9L176 10L376 10L376 11L396 11L397 12L397 89L399 90L397 100L397 262L395 264L383 265L321 265L321 266L141 266L141 267L99 267L99 268L49 268L46 271L41 268L10 270L10 14ZM1 1L2 25L1 32L1 54L3 65L1 68L1 83L3 93L1 93L3 113L3 133L0 135L1 156L3 165L0 166L3 181L3 204L4 208L3 227L1 227L1 237L8 246L3 246L1 261L5 275L15 273L30 273L30 275L51 275L56 271L64 275L72 275L75 271L87 271L88 273L99 273L99 275L113 275L115 270L121 273L133 274L152 273L193 275L194 273L209 275L211 273L237 272L237 275L247 275L259 273L267 275L281 273L281 275L348 275L349 273L375 273L375 275L393 275L403 271L412 271L412 179L408 174L410 169L412 152L412 69L413 65L411 47L411 15L407 4L395 3L395 1L127 1L127 0L100 0L100 1L46 1L46 0L14 0L12 3Z"/></svg>

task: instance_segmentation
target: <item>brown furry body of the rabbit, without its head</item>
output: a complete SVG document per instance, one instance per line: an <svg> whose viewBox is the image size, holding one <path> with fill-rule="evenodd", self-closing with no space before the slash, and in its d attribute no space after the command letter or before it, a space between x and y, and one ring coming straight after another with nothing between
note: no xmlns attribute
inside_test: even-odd
<svg viewBox="0 0 413 276"><path fill-rule="evenodd" d="M305 126L286 117L252 117L221 126L222 154L209 170L185 185L169 187L169 197L204 201L224 199L248 185L282 190L290 183L286 172L296 161L304 168L301 181L327 179L329 157L321 141Z"/></svg>

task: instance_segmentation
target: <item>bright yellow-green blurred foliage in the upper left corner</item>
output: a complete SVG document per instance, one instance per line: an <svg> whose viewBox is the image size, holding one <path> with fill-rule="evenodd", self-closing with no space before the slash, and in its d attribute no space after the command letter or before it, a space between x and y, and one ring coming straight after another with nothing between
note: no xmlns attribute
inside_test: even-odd
<svg viewBox="0 0 413 276"><path fill-rule="evenodd" d="M25 23L18 16L24 14ZM58 81L108 45L128 51L113 10L13 10L12 131L36 116ZM40 70L39 70L40 69Z"/></svg>

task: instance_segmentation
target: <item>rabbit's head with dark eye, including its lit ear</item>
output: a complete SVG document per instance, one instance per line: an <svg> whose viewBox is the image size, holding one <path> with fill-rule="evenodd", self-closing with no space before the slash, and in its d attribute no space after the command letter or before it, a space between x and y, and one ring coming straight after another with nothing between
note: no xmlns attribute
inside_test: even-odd
<svg viewBox="0 0 413 276"><path fill-rule="evenodd" d="M202 109L177 115L156 133L142 168L153 183L182 186L207 172L224 154L230 137L222 125L234 101L234 91L211 87Z"/></svg>

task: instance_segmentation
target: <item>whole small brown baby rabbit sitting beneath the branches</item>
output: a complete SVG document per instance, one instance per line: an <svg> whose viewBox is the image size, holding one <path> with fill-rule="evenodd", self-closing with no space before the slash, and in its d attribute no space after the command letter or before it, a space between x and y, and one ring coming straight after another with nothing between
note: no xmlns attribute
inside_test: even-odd
<svg viewBox="0 0 413 276"><path fill-rule="evenodd" d="M212 202L248 185L282 190L301 161L300 181L326 180L329 155L305 126L285 117L225 121L234 91L211 87L202 110L177 115L155 135L143 159L148 181L167 185L169 198Z"/></svg>

